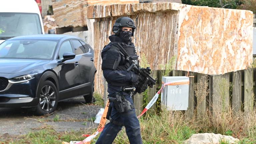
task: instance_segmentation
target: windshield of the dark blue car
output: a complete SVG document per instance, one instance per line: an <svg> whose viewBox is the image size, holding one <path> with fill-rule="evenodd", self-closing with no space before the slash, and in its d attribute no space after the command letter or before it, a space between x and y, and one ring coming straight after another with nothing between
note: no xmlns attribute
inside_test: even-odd
<svg viewBox="0 0 256 144"><path fill-rule="evenodd" d="M57 41L7 40L0 44L0 58L51 59Z"/></svg>

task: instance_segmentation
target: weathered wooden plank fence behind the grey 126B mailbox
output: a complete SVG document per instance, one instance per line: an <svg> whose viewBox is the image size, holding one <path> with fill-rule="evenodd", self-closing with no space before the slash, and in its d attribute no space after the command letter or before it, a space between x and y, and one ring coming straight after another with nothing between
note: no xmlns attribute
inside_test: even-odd
<svg viewBox="0 0 256 144"><path fill-rule="evenodd" d="M135 95L134 104L139 114L161 87L161 78L165 71L155 70L152 76L157 78L157 84L149 88L147 96ZM187 71L173 70L165 76L187 76ZM189 72L189 106L184 111L185 117L192 118L194 113L202 117L207 110L213 114L221 111L248 112L255 104L256 69L240 70L222 75L207 75ZM160 102L160 96L159 101ZM151 107L156 110L157 105Z"/></svg>

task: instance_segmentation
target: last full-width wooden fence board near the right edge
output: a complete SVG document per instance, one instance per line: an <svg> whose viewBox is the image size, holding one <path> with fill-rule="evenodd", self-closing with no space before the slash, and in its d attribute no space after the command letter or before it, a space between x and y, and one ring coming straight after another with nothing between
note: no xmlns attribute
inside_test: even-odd
<svg viewBox="0 0 256 144"><path fill-rule="evenodd" d="M244 71L244 111L250 112L253 109L253 69Z"/></svg>

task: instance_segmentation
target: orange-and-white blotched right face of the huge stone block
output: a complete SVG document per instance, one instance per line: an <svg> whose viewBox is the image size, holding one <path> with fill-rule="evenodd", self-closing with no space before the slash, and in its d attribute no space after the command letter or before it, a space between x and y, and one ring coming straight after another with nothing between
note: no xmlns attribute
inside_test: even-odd
<svg viewBox="0 0 256 144"><path fill-rule="evenodd" d="M177 69L223 74L252 63L252 12L191 7L180 23Z"/></svg>

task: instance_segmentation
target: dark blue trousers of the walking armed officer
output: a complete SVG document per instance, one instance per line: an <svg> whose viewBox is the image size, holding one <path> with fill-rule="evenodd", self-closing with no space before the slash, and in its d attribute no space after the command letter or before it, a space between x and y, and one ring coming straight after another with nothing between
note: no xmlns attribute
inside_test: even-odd
<svg viewBox="0 0 256 144"><path fill-rule="evenodd" d="M124 93L125 99L133 104L133 100L129 94ZM125 127L130 144L142 144L140 124L136 116L135 110L131 109L124 113L118 113L114 107L114 102L110 102L112 106L111 118L115 121L122 122ZM112 144L122 126L113 123L108 123L100 134L96 144Z"/></svg>

